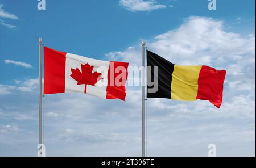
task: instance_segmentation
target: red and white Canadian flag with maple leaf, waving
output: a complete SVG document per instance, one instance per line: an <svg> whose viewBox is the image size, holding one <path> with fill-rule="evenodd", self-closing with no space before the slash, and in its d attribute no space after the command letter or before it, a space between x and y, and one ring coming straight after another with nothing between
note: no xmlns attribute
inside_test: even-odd
<svg viewBox="0 0 256 168"><path fill-rule="evenodd" d="M125 100L128 65L44 47L44 94L81 92Z"/></svg>

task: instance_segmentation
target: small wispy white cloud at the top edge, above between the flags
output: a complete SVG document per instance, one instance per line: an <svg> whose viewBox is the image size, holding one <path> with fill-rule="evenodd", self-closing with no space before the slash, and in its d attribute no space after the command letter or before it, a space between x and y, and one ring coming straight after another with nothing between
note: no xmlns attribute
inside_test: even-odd
<svg viewBox="0 0 256 168"><path fill-rule="evenodd" d="M119 5L132 12L152 11L166 7L166 5L160 5L154 0L120 0Z"/></svg>

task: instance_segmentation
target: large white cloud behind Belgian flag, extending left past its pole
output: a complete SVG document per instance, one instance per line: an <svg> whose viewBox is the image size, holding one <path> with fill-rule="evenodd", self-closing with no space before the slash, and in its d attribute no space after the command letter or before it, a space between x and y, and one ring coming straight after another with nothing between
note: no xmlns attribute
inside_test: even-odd
<svg viewBox="0 0 256 168"><path fill-rule="evenodd" d="M179 28L146 40L146 45L174 64L209 65L227 69L227 75L244 74L247 67L255 67L255 35L242 37L224 28L222 21L191 16ZM141 44L106 56L141 65Z"/></svg>

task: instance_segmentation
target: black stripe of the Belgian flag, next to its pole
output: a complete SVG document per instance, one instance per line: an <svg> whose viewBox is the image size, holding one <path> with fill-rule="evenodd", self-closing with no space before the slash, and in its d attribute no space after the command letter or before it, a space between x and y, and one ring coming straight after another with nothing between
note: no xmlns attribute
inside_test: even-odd
<svg viewBox="0 0 256 168"><path fill-rule="evenodd" d="M158 66L158 91L156 91L156 93L148 93L147 89L147 98L171 99L171 83L174 64L147 50L147 66L151 66L151 72L147 73L151 73L152 81L154 80L154 66ZM147 86L147 88L152 87Z"/></svg>

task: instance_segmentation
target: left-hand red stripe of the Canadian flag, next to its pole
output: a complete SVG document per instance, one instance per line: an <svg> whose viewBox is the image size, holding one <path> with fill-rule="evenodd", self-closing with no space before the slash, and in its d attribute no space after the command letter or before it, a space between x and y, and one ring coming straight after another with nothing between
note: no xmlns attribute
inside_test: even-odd
<svg viewBox="0 0 256 168"><path fill-rule="evenodd" d="M44 47L44 94L65 92L66 53Z"/></svg>

